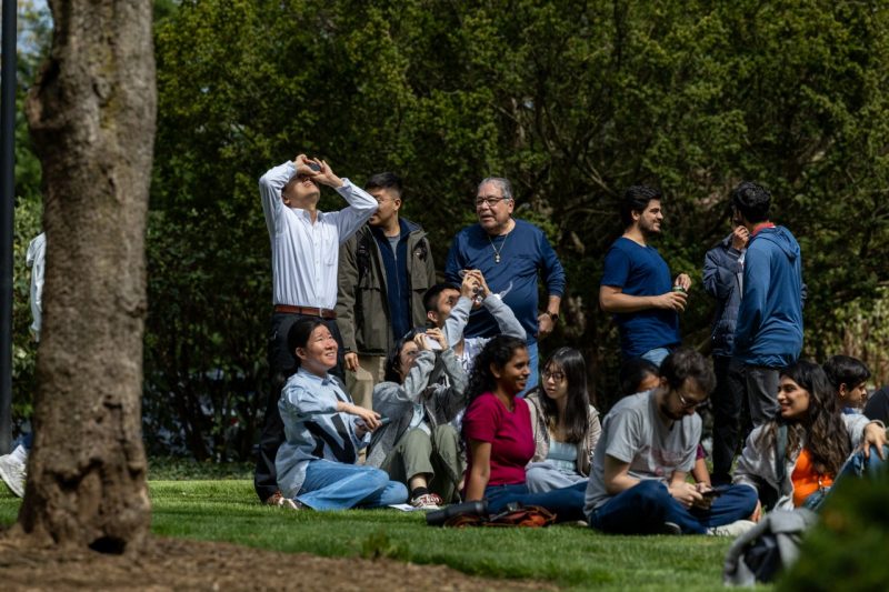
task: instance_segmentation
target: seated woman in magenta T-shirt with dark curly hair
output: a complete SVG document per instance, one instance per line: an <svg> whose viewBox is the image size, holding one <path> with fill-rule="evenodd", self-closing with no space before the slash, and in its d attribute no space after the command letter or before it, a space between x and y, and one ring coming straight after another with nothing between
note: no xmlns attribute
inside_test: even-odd
<svg viewBox="0 0 889 592"><path fill-rule="evenodd" d="M535 439L528 403L517 395L530 373L523 339L498 335L476 359L462 428L468 450L463 498L487 499L491 513L519 502L546 508L560 522L581 520L582 481L546 493L531 493L526 484L525 468L535 454Z"/></svg>

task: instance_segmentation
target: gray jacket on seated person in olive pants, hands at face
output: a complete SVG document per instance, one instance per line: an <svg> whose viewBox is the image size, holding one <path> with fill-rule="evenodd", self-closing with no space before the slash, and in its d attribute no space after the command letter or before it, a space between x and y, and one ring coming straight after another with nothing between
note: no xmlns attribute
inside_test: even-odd
<svg viewBox="0 0 889 592"><path fill-rule="evenodd" d="M382 465L408 431L414 403L422 403L424 421L430 428L450 422L466 407L466 383L460 361L448 348L438 357L432 351L420 352L403 384L377 384L373 388L373 411L392 421L373 432L367 464Z"/></svg>

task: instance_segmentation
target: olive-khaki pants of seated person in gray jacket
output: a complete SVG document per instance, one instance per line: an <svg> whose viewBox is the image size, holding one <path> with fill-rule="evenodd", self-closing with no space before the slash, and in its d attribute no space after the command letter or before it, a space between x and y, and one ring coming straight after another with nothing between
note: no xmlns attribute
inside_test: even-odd
<svg viewBox="0 0 889 592"><path fill-rule="evenodd" d="M457 498L463 461L460 456L460 434L446 423L432 435L420 428L408 430L380 466L393 481L408 484L410 478L428 474L429 491L438 493L444 503Z"/></svg>

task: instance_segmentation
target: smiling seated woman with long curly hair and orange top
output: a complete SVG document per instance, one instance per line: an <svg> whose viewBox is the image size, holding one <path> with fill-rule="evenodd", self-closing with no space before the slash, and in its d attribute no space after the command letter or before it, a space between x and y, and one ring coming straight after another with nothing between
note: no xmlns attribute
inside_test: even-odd
<svg viewBox="0 0 889 592"><path fill-rule="evenodd" d="M757 489L765 505L816 509L839 475L875 471L886 458L886 427L843 415L820 365L785 369L778 403L779 415L750 433L735 470L735 482Z"/></svg>

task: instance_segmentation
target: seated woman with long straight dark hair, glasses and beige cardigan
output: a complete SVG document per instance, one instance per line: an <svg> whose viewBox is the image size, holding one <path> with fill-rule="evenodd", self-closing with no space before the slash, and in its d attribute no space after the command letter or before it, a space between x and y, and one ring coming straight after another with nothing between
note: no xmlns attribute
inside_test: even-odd
<svg viewBox="0 0 889 592"><path fill-rule="evenodd" d="M583 355L572 348L556 350L543 364L540 384L525 400L535 435L535 455L526 469L528 490L586 483L602 428L589 403Z"/></svg>

